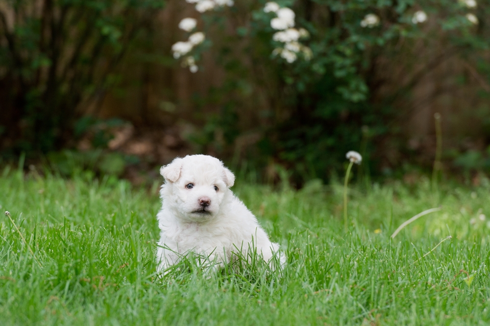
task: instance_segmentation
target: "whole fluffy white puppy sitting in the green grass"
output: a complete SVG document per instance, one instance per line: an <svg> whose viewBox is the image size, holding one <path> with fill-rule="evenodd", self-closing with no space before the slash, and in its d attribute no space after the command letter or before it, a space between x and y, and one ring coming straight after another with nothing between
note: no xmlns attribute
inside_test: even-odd
<svg viewBox="0 0 490 326"><path fill-rule="evenodd" d="M255 216L233 194L235 176L208 155L176 158L162 166L165 184L160 190L162 209L157 215L160 241L158 270L163 272L189 252L222 265L249 249L270 261L279 246L270 242ZM237 249L238 248L238 249ZM280 255L281 265L284 256Z"/></svg>

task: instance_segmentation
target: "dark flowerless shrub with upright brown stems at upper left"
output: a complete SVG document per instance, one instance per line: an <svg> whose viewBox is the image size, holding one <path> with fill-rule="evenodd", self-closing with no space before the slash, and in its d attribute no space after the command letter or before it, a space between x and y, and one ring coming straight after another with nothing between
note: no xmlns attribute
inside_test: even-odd
<svg viewBox="0 0 490 326"><path fill-rule="evenodd" d="M119 78L115 68L162 4L160 0L3 1L3 147L48 152L69 144L80 115L77 107L91 100L100 104Z"/></svg>

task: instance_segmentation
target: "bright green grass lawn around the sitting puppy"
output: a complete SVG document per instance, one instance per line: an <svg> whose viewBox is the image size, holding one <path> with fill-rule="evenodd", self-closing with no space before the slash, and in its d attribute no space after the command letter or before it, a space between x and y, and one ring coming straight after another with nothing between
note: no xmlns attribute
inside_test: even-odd
<svg viewBox="0 0 490 326"><path fill-rule="evenodd" d="M3 171L0 325L488 325L490 185L300 191L238 180L234 191L285 248L282 273L155 273L158 184ZM392 232L433 207L394 240ZM490 224L489 224L490 226ZM444 241L430 252L447 235ZM470 278L468 279L468 275ZM469 281L471 280L471 281Z"/></svg>

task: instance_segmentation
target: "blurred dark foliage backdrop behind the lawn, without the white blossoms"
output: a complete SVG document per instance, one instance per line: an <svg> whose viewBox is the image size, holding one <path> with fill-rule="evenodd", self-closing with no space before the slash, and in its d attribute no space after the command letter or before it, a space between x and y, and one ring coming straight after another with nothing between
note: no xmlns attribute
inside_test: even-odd
<svg viewBox="0 0 490 326"><path fill-rule="evenodd" d="M490 168L489 1L280 1L310 34L293 64L271 55L264 3L0 0L2 159L136 178L200 152L301 186L358 150L362 175L409 175L432 166L439 112L444 170ZM195 74L170 51L185 17L206 33Z"/></svg>

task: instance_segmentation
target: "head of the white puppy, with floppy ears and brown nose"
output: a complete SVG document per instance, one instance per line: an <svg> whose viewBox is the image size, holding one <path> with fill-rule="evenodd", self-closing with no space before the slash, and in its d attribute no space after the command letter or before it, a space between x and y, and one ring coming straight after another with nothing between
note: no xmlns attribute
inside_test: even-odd
<svg viewBox="0 0 490 326"><path fill-rule="evenodd" d="M216 216L233 186L235 176L223 163L208 155L188 155L162 166L166 191L162 192L179 215L193 221ZM170 197L170 198L168 198Z"/></svg>

